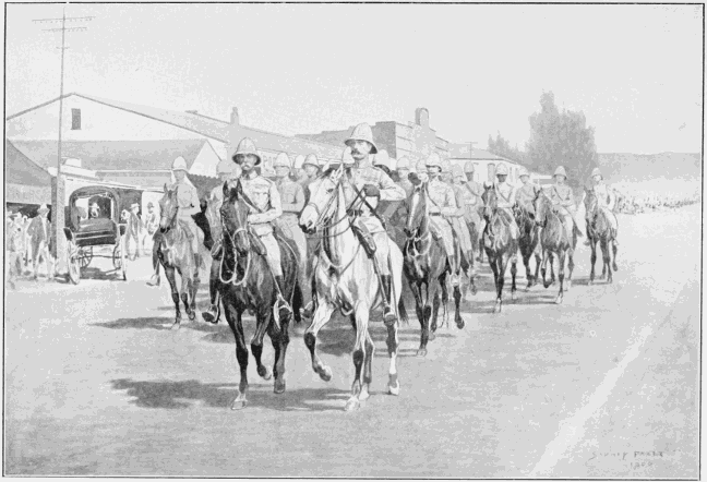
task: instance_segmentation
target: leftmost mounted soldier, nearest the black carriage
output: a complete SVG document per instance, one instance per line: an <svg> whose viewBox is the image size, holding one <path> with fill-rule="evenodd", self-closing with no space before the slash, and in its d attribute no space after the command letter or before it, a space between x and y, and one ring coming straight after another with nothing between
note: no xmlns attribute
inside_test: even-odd
<svg viewBox="0 0 707 482"><path fill-rule="evenodd" d="M172 177L175 178L175 182L170 189L177 189L177 204L179 205L177 219L188 229L188 237L190 238L192 253L194 254L194 263L199 266L199 227L196 226L196 222L194 222L192 216L201 213L201 207L199 204L199 193L196 192L196 188L194 188L194 184L192 184L187 177L187 160L184 160L182 156L179 156L172 162ZM152 278L149 278L149 281L147 281L148 286L159 286L160 241L161 231L157 230L153 237L153 268L155 273Z"/></svg>

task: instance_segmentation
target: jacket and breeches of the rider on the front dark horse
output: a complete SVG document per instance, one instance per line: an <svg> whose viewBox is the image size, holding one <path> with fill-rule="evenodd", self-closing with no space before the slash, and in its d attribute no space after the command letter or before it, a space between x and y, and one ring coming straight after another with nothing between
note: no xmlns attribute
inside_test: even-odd
<svg viewBox="0 0 707 482"><path fill-rule="evenodd" d="M260 213L251 213L248 222L267 251L267 264L275 276L283 276L281 255L277 240L273 236L272 222L283 215L279 192L275 182L253 171L250 177L241 177L243 193L251 200Z"/></svg>

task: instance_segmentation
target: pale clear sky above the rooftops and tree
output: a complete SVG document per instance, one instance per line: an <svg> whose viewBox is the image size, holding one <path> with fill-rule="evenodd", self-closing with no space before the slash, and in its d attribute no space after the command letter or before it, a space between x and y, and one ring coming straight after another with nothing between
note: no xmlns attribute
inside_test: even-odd
<svg viewBox="0 0 707 482"><path fill-rule="evenodd" d="M59 95L60 4L7 4L5 115ZM524 148L540 95L600 153L700 152L702 5L69 4L64 93L296 134L430 125Z"/></svg>

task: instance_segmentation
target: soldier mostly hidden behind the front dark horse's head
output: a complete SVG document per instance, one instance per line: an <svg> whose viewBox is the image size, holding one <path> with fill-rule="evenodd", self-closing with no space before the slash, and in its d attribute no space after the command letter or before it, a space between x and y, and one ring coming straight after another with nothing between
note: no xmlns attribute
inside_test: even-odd
<svg viewBox="0 0 707 482"><path fill-rule="evenodd" d="M212 231L212 239L214 240L214 245L211 249L212 262L211 275L208 278L208 299L211 300L211 305L208 310L202 312L204 321L208 323L218 323L218 268L219 263L215 260L220 256L223 250L223 225L220 220L220 208L224 205L224 184L231 179L238 179L241 176L241 168L236 162L229 161L227 159L221 160L216 166L216 173L220 180L220 184L212 189L207 197L208 206L206 207L206 217L208 219L208 226Z"/></svg>

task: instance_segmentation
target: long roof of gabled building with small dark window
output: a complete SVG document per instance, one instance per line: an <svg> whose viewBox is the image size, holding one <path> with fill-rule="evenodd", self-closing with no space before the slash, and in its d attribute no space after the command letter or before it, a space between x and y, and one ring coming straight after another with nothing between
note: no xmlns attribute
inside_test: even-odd
<svg viewBox="0 0 707 482"><path fill-rule="evenodd" d="M63 98L76 96L84 99L92 100L94 103L103 104L105 106L113 107L116 109L124 110L127 112L132 112L137 116L146 117L148 119L157 120L160 122L175 125L177 128L185 129L188 131L194 132L196 134L204 135L206 137L214 138L220 142L227 142L228 140L228 126L230 125L226 121L220 121L217 119L212 119L206 116L182 112L179 110L161 109L159 107L149 107L149 106L140 106L136 104L124 103L122 100L112 100L106 99L103 97L96 97L94 95L70 93L65 94ZM14 119L27 112L31 112L40 107L45 107L49 104L56 103L59 100L59 97L53 98L38 106L31 107L29 109L23 110L21 112L14 113L7 118L7 120Z"/></svg>

